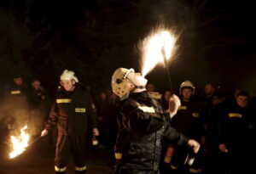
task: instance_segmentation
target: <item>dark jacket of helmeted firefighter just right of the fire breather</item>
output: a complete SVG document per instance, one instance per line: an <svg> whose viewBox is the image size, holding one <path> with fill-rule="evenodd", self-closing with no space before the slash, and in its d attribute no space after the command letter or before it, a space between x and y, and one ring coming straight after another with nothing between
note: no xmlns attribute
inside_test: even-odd
<svg viewBox="0 0 256 174"><path fill-rule="evenodd" d="M199 104L191 100L185 102L181 99L177 115L172 118L172 126L177 129L177 132L182 132L187 137L200 141L205 132Z"/></svg>

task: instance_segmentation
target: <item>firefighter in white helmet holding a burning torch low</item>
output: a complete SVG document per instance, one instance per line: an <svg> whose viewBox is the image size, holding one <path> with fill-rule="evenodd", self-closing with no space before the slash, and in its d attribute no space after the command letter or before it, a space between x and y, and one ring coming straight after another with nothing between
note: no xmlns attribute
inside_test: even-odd
<svg viewBox="0 0 256 174"><path fill-rule="evenodd" d="M68 154L73 153L76 174L86 173L84 161L85 134L89 120L92 132L98 136L96 128L96 107L90 94L79 85L79 79L72 70L64 70L61 74L61 88L49 114L49 120L41 133L45 136L57 125L58 137L55 149L55 173L65 173Z"/></svg>

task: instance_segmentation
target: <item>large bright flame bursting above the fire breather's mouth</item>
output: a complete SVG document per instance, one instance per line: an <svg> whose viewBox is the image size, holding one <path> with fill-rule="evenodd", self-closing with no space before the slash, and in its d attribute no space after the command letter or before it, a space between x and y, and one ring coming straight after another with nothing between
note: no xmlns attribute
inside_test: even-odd
<svg viewBox="0 0 256 174"><path fill-rule="evenodd" d="M176 38L170 31L161 30L143 40L143 76L146 76L159 62L164 63L165 57L171 58L175 42Z"/></svg>

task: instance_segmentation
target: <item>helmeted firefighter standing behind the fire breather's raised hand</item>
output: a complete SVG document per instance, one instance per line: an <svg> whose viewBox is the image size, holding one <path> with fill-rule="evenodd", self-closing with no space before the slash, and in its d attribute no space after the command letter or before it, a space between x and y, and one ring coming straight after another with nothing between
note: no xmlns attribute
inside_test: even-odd
<svg viewBox="0 0 256 174"><path fill-rule="evenodd" d="M200 143L204 143L204 127L200 116L200 105L192 97L195 93L195 86L191 81L183 81L179 87L181 105L177 115L172 118L172 126L177 132L183 133L188 138L193 138ZM193 164L183 165L188 156L188 152L183 147L175 147L172 156L171 168L173 171L183 171L188 173L201 173L200 154Z"/></svg>

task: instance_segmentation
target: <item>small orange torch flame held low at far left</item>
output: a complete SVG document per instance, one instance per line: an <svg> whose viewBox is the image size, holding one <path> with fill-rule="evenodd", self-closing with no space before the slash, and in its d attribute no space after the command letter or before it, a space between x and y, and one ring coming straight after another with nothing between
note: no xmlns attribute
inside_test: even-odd
<svg viewBox="0 0 256 174"><path fill-rule="evenodd" d="M20 137L16 138L15 136L11 136L11 142L13 146L13 151L9 153L9 158L15 158L22 152L26 150L29 141L29 135L25 132L27 126L24 126L20 129Z"/></svg>

